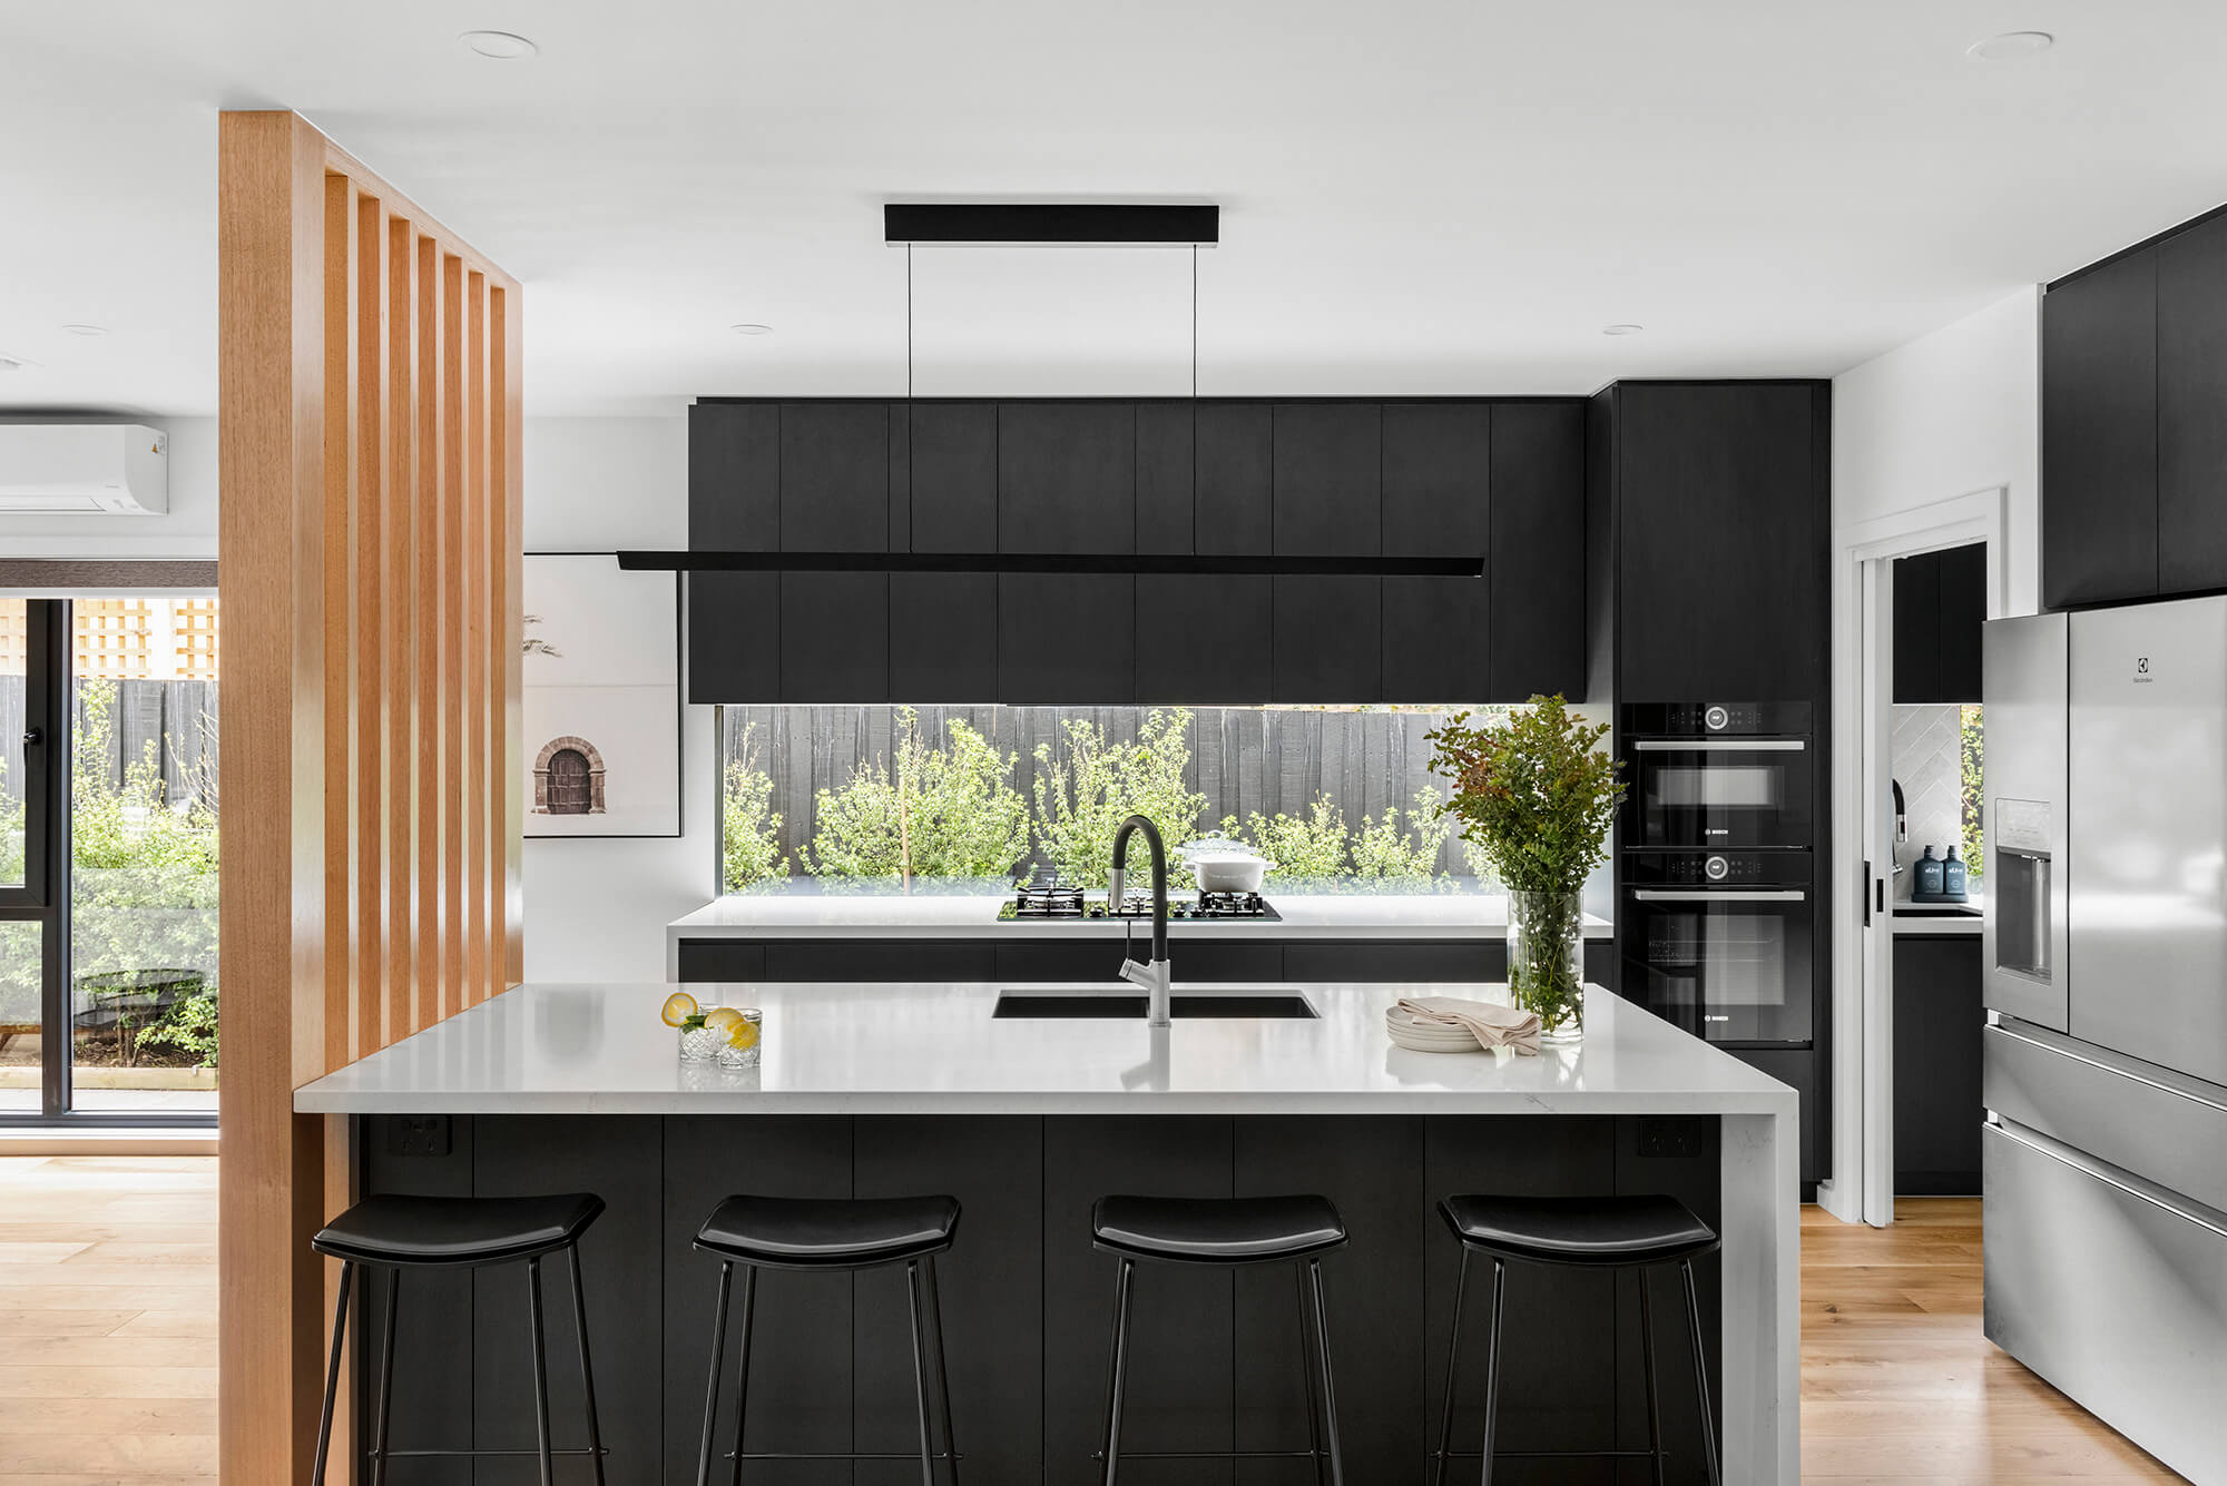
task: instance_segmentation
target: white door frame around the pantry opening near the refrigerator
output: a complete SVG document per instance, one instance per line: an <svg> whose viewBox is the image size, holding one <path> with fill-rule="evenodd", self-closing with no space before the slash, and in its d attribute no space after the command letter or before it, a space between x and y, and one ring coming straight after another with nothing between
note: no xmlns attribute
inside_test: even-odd
<svg viewBox="0 0 2227 1486"><path fill-rule="evenodd" d="M1864 925L1873 825L1886 819L1893 699L1893 558L1986 543L1986 616L2007 612L2011 492L1991 485L1833 534L1833 1177L1817 1203L1844 1224L1895 1217L1893 925Z"/></svg>

